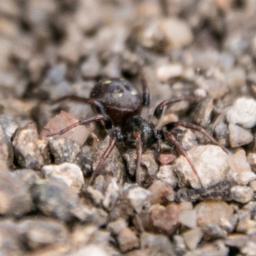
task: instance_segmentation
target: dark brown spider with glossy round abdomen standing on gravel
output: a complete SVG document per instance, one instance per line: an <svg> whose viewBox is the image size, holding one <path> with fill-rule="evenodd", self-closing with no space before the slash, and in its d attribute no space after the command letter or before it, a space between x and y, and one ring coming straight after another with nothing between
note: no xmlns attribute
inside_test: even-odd
<svg viewBox="0 0 256 256"><path fill-rule="evenodd" d="M127 148L136 148L137 159L135 178L136 182L140 184L141 180L139 169L142 152L148 148L152 148L153 145L157 145L157 152L160 152L161 141L169 141L173 143L180 154L186 157L202 188L204 188L202 185L202 180L198 176L193 162L191 159L189 159L186 151L179 145L178 141L173 136L173 128L181 126L200 131L212 143L220 146L225 152L227 152L227 150L223 148L218 141L212 138L212 136L210 136L205 129L198 125L177 121L170 122L163 125L160 129L156 129L156 125L142 118L140 116L142 109L149 108L150 105L150 92L143 74L141 74L140 80L142 93L140 93L138 89L132 85L132 83L125 79L102 79L92 88L89 98L79 97L76 95L67 95L65 97L61 97L60 99L54 100L53 103L61 102L62 100L74 100L76 102L90 104L93 106L93 109L95 109L97 115L80 120L79 122L76 122L75 124L72 124L61 131L47 134L47 136L63 134L77 125L86 125L90 122L103 122L104 127L111 139L109 141L109 146L106 148L105 152L100 158L99 164L97 164L97 167L93 171L87 186L92 185L95 177L99 175L100 167L109 156L111 150L113 150L117 142L124 143L125 147ZM195 98L178 97L164 100L154 110L153 116L155 120L159 120L161 118L164 107L181 100L195 100Z"/></svg>

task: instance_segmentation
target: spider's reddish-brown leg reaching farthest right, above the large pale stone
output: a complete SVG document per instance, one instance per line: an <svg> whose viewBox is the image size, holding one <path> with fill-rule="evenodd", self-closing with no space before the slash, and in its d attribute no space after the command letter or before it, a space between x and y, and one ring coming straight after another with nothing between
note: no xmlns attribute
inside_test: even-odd
<svg viewBox="0 0 256 256"><path fill-rule="evenodd" d="M185 127L185 128L193 129L195 131L202 132L202 134L204 134L204 136L206 138L208 138L213 144L221 147L221 149L225 153L228 154L228 150L225 147L223 147L218 141L216 141L210 134L207 133L207 131L205 131L204 128L202 128L199 125L189 124L189 123L186 123L186 122L183 122L183 121L177 121L177 122L172 122L172 123L166 124L164 126L166 126L167 130L173 129L173 127L182 126L182 127Z"/></svg>

